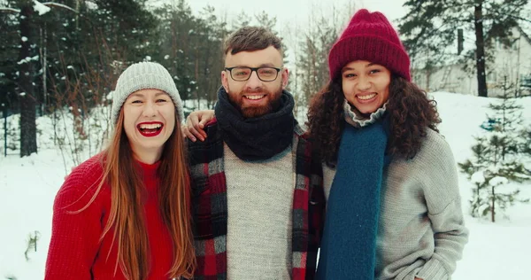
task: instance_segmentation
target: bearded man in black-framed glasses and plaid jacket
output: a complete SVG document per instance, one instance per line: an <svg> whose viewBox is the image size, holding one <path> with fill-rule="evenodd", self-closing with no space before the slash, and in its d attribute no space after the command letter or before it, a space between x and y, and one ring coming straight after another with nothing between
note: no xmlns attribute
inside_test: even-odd
<svg viewBox="0 0 531 280"><path fill-rule="evenodd" d="M320 160L293 115L281 40L227 38L215 118L189 142L197 279L313 279L324 225Z"/></svg>

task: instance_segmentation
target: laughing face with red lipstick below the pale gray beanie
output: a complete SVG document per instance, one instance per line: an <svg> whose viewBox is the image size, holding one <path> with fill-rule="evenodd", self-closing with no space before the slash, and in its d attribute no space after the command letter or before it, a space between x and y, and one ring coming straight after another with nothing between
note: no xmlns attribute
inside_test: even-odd
<svg viewBox="0 0 531 280"><path fill-rule="evenodd" d="M135 157L143 162L160 159L175 128L175 105L159 89L135 91L123 105L124 130Z"/></svg>

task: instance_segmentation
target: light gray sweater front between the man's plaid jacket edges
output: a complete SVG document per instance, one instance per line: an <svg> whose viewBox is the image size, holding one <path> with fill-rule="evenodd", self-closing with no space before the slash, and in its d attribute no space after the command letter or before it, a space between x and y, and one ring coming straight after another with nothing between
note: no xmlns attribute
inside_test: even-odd
<svg viewBox="0 0 531 280"><path fill-rule="evenodd" d="M227 144L224 150L227 278L290 279L295 191L291 147L261 162L239 159Z"/></svg>

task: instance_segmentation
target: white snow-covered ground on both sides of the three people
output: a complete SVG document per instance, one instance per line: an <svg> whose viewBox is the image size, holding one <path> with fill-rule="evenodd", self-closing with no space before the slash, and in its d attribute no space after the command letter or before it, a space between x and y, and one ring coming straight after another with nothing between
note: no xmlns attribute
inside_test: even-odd
<svg viewBox="0 0 531 280"><path fill-rule="evenodd" d="M440 130L458 162L470 157L473 136L489 113L492 99L444 92L433 93L443 123ZM531 120L531 97L523 99L524 118ZM0 279L42 279L50 243L53 198L73 161L61 156L51 139L53 128L41 118L38 154L20 159L16 152L0 155ZM17 123L17 121L12 121ZM11 125L13 127L13 125ZM3 133L0 139L4 140ZM86 155L85 157L88 157ZM457 164L457 163L456 163ZM531 204L514 206L498 222L473 219L468 212L472 184L459 175L470 241L452 279L529 279L531 252ZM531 198L531 183L519 186L523 197ZM27 252L30 235L38 232L35 249Z"/></svg>

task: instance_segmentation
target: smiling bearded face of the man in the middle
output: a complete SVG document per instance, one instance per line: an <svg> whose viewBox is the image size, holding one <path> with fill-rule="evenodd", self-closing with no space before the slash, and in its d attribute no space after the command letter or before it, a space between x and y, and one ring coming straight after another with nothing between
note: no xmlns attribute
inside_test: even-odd
<svg viewBox="0 0 531 280"><path fill-rule="evenodd" d="M280 103L282 89L288 84L288 69L282 68L281 51L269 46L259 51L227 52L226 67L276 67L281 72L272 82L263 82L258 74L252 72L247 81L235 81L229 71L221 72L221 82L227 91L228 98L245 118L255 118L271 113Z"/></svg>

